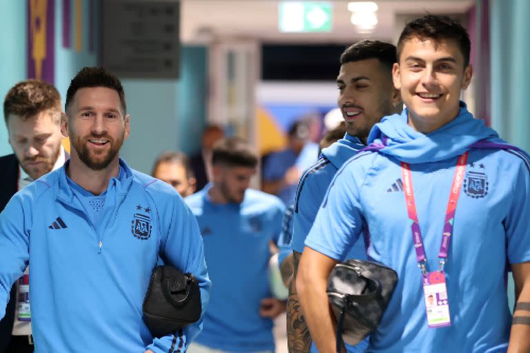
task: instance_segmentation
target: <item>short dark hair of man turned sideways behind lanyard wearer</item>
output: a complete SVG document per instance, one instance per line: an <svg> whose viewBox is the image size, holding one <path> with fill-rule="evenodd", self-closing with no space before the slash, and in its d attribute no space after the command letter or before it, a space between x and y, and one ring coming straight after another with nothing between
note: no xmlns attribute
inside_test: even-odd
<svg viewBox="0 0 530 353"><path fill-rule="evenodd" d="M358 41L342 52L340 65L367 59L379 60L391 73L394 63L397 63L395 46L384 41L370 41L368 39Z"/></svg>

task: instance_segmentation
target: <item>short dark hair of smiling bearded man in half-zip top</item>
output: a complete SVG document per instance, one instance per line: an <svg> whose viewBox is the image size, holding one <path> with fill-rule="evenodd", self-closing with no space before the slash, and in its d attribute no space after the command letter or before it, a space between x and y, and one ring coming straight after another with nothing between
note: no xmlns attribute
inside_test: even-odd
<svg viewBox="0 0 530 353"><path fill-rule="evenodd" d="M82 68L81 71L77 72L72 81L70 81L68 91L66 91L66 102L64 104L65 110L68 109L68 106L72 103L77 90L87 87L105 87L115 90L119 96L121 109L124 110L124 115L127 114L124 86L121 85L121 81L119 81L115 74L112 74L101 67Z"/></svg>

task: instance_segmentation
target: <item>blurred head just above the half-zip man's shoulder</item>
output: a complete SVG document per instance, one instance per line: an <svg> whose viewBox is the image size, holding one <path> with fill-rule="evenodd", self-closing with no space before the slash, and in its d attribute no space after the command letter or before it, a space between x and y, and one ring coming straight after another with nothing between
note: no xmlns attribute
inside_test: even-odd
<svg viewBox="0 0 530 353"><path fill-rule="evenodd" d="M197 181L188 157L183 152L167 151L160 154L153 165L151 175L173 186L182 197L195 192Z"/></svg>

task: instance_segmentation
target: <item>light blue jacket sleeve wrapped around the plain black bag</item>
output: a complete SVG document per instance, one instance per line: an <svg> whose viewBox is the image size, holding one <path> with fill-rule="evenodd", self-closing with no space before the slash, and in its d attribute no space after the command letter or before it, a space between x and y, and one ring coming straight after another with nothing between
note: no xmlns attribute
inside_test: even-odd
<svg viewBox="0 0 530 353"><path fill-rule="evenodd" d="M204 261L204 246L199 226L195 216L188 206L184 204L179 196L169 205L166 214L160 214L161 221L167 229L166 237L161 243L161 252L164 253L170 265L175 266L182 272L190 272L195 276L201 291L202 315L196 323L188 325L184 330L175 332L170 336L154 339L153 343L146 347L155 353L180 353L186 352L189 343L202 330L202 321L206 305L208 305L210 293L210 279Z"/></svg>

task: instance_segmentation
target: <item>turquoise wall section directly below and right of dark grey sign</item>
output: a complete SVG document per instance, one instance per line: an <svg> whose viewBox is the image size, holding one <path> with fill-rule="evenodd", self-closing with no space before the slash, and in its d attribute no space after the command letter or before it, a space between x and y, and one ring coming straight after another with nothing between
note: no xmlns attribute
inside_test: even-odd
<svg viewBox="0 0 530 353"><path fill-rule="evenodd" d="M123 79L131 134L121 157L150 173L165 150L195 152L206 120L206 47L183 46L179 80Z"/></svg>

